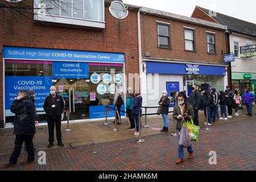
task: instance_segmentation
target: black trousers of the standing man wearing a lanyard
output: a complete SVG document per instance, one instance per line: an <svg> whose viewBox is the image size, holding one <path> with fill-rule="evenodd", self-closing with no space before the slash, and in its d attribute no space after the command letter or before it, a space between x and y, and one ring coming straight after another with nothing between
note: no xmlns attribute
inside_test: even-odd
<svg viewBox="0 0 256 182"><path fill-rule="evenodd" d="M47 124L49 131L49 143L54 142L54 126L56 127L56 138L58 142L62 142L61 139L61 115L47 116Z"/></svg>

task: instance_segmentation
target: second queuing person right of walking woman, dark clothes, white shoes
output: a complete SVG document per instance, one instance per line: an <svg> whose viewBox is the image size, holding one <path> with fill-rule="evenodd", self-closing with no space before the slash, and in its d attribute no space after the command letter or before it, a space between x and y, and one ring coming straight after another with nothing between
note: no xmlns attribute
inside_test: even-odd
<svg viewBox="0 0 256 182"><path fill-rule="evenodd" d="M208 125L212 125L212 118L210 115L210 100L212 100L211 96L210 96L210 92L207 91L205 88L201 89L201 94L203 95L202 99L203 99L203 107L204 107L204 115L205 115L205 119L207 119L207 115L208 115ZM207 122L204 123L204 125L207 125Z"/></svg>

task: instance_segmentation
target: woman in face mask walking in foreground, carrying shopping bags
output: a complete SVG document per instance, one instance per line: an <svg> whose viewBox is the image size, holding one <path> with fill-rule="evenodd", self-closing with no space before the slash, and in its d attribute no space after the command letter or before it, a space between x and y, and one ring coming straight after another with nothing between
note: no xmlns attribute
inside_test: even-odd
<svg viewBox="0 0 256 182"><path fill-rule="evenodd" d="M174 117L174 119L176 119L177 121L176 130L178 135L178 159L176 161L176 164L180 164L183 162L184 159L183 147L187 147L189 159L193 159L194 151L193 148L191 147L191 143L189 143L190 139L188 135L188 128L183 126L183 123L187 122L189 119L193 119L195 117L195 114L193 107L187 102L187 96L183 92L180 92L178 94L177 101L178 104L174 106L174 113L172 114L172 117ZM180 139L183 140L183 143L185 142L186 144L180 145L180 142L182 142L180 141Z"/></svg>

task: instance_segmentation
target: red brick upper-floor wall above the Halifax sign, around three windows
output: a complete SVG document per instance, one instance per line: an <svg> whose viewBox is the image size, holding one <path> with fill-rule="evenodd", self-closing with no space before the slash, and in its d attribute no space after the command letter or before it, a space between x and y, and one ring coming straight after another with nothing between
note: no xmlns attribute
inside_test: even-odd
<svg viewBox="0 0 256 182"><path fill-rule="evenodd" d="M158 48L158 32L156 20L160 22L170 23L171 30L171 47L172 49ZM195 28L196 52L184 51L184 28ZM179 22L176 20L159 18L152 15L141 15L142 27L142 56L145 52L150 52L151 58L159 59L177 59L200 61L202 63L222 63L222 50L225 51L225 33L208 27L201 27L195 24ZM216 55L207 53L207 32L216 32ZM145 57L147 58L147 57Z"/></svg>

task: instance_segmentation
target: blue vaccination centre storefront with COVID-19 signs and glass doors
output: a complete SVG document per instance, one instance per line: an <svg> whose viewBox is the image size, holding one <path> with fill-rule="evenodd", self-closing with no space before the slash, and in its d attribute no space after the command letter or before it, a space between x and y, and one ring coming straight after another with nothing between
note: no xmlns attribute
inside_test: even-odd
<svg viewBox="0 0 256 182"><path fill-rule="evenodd" d="M22 89L35 90L39 122L46 122L43 103L52 85L63 96L72 121L105 118L105 105L113 104L115 85L125 88L124 53L4 46L3 63L7 125L14 118L10 106ZM108 117L114 117L114 110L108 109ZM62 118L67 121L67 114Z"/></svg>

